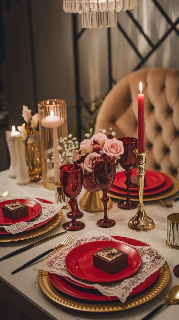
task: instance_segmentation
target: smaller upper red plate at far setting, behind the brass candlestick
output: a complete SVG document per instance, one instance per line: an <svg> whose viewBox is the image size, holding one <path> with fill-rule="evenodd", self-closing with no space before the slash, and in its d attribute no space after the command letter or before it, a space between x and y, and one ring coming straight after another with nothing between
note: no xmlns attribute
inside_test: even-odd
<svg viewBox="0 0 179 320"><path fill-rule="evenodd" d="M132 177L137 176L137 168L132 169ZM145 173L146 183L144 186L144 191L149 191L152 189L159 188L165 182L165 176L161 172L146 170ZM124 171L117 172L113 185L122 190L127 190L127 186L125 184L126 175ZM130 187L131 191L138 192L138 186Z"/></svg>

